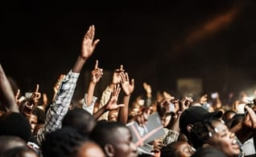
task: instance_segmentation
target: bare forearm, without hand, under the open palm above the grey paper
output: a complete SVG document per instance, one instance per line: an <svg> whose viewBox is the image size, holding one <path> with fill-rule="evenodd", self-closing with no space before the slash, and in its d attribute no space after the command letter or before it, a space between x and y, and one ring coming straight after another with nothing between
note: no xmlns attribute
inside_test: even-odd
<svg viewBox="0 0 256 157"><path fill-rule="evenodd" d="M125 95L123 98L124 107L120 108L118 113L118 122L127 123L128 120L128 109L129 109L130 95Z"/></svg>

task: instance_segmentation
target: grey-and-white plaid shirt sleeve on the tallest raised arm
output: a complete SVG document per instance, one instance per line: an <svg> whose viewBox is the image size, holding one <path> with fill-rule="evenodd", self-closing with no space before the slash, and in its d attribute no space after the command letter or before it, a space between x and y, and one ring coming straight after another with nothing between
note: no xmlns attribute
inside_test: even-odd
<svg viewBox="0 0 256 157"><path fill-rule="evenodd" d="M47 133L56 131L56 129L61 127L64 115L68 112L68 107L71 103L79 74L80 73L74 73L70 70L62 81L56 99L50 104L47 111L45 123L36 135L36 139L40 144Z"/></svg>

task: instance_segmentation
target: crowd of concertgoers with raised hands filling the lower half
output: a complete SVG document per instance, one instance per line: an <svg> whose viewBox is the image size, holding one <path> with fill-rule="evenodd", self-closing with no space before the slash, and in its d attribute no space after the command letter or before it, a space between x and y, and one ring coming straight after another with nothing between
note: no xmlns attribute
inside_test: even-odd
<svg viewBox="0 0 256 157"><path fill-rule="evenodd" d="M50 103L39 85L29 98L14 91L0 64L0 156L256 155L256 102L248 101L246 94L229 103L223 103L220 95L178 99L166 91L154 96L151 85L143 83L145 97L138 95L131 102L134 79L121 65L98 99L94 89L103 69L96 61L85 97L72 103L82 67L100 41L94 34L95 27L89 26L81 53L68 74L60 74ZM164 135L149 143L134 143L126 124L145 126L154 113Z"/></svg>

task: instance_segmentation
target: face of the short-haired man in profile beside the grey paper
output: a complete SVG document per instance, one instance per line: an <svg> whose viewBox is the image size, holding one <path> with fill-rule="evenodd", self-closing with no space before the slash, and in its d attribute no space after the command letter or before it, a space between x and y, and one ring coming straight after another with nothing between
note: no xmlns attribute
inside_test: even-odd
<svg viewBox="0 0 256 157"><path fill-rule="evenodd" d="M114 156L132 157L137 156L137 147L132 142L130 131L126 127L119 127L114 133L116 138L114 145Z"/></svg>

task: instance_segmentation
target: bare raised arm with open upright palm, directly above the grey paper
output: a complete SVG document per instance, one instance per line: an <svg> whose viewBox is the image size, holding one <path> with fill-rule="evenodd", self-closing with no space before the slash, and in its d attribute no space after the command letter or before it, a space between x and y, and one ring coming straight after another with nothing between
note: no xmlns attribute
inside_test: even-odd
<svg viewBox="0 0 256 157"><path fill-rule="evenodd" d="M122 91L124 91L123 104L125 107L122 107L118 113L118 121L121 123L127 123L128 120L128 110L129 110L129 101L130 95L134 91L134 79L129 79L128 73L122 72L121 74L121 85Z"/></svg>

